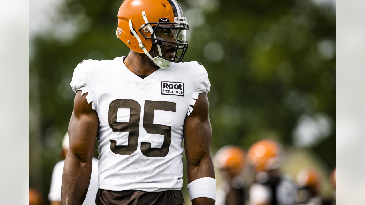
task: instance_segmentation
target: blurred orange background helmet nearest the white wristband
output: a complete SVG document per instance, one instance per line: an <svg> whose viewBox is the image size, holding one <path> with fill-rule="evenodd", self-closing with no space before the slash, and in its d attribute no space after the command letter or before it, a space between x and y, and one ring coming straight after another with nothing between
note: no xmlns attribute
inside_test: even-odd
<svg viewBox="0 0 365 205"><path fill-rule="evenodd" d="M240 147L227 145L218 150L214 156L214 161L216 167L235 176L245 167L245 152Z"/></svg>

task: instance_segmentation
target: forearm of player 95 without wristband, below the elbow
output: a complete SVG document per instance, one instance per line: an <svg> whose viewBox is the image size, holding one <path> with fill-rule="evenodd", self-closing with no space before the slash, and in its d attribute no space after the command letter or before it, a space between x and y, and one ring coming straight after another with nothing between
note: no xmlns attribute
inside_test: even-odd
<svg viewBox="0 0 365 205"><path fill-rule="evenodd" d="M62 205L81 205L91 178L92 160L84 160L70 153L66 157L62 176Z"/></svg>

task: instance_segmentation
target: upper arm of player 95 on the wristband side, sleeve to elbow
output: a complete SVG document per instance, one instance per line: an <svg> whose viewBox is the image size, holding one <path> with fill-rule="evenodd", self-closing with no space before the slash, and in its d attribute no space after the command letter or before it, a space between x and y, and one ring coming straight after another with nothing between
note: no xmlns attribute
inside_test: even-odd
<svg viewBox="0 0 365 205"><path fill-rule="evenodd" d="M205 156L210 157L211 141L208 97L207 94L200 93L193 112L184 122L184 145L188 164L199 164Z"/></svg>

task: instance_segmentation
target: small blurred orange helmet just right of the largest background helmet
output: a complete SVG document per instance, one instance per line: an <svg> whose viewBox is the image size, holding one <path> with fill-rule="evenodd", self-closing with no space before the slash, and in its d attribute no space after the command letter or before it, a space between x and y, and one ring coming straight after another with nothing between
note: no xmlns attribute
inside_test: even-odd
<svg viewBox="0 0 365 205"><path fill-rule="evenodd" d="M309 187L314 193L319 193L320 177L316 170L307 169L301 170L297 175L297 183L299 188Z"/></svg>

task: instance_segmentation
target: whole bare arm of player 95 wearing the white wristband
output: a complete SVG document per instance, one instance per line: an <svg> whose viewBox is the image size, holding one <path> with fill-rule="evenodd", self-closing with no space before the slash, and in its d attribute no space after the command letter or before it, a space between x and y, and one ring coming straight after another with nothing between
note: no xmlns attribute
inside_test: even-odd
<svg viewBox="0 0 365 205"><path fill-rule="evenodd" d="M212 128L209 120L209 102L207 94L200 93L194 110L184 122L184 144L187 158L188 183L203 177L215 178L214 166L210 154ZM193 205L209 205L211 198L195 198Z"/></svg>

